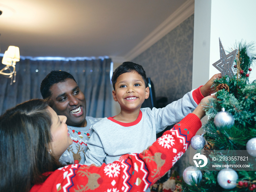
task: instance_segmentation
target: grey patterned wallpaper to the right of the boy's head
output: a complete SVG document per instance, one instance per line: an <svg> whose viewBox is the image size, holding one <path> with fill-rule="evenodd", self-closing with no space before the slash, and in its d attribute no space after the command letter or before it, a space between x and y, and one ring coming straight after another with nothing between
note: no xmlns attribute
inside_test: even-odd
<svg viewBox="0 0 256 192"><path fill-rule="evenodd" d="M143 66L155 87L156 97L168 103L192 89L194 15L132 60Z"/></svg>

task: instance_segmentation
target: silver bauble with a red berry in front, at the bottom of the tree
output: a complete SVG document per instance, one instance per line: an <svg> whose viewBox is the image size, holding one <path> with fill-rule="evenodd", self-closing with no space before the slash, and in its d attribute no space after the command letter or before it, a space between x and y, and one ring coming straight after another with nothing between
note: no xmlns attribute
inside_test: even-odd
<svg viewBox="0 0 256 192"><path fill-rule="evenodd" d="M223 189L233 189L237 186L238 174L230 168L222 169L217 176L218 184Z"/></svg>

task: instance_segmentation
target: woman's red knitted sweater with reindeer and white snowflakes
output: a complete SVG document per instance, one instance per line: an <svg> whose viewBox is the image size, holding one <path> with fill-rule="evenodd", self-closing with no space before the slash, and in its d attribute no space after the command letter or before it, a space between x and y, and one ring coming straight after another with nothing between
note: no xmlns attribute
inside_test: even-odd
<svg viewBox="0 0 256 192"><path fill-rule="evenodd" d="M34 185L30 192L146 191L185 153L201 125L199 118L190 113L140 154L131 154L128 159L102 166L62 167L47 173L47 180Z"/></svg>

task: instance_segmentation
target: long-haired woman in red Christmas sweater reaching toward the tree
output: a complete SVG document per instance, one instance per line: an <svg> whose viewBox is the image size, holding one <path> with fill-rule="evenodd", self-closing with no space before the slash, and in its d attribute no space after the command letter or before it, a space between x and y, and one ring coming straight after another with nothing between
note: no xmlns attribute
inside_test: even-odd
<svg viewBox="0 0 256 192"><path fill-rule="evenodd" d="M72 143L67 118L57 116L42 99L21 103L0 117L0 191L146 190L174 165L201 127L202 103L193 113L148 150L126 160L63 167L59 157Z"/></svg>

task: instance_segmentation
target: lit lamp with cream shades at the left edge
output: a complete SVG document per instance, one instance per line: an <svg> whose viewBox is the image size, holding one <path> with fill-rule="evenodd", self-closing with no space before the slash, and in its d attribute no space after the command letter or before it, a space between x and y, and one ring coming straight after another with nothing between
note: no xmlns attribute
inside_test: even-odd
<svg viewBox="0 0 256 192"><path fill-rule="evenodd" d="M6 65L0 70L0 75L5 78L11 78L12 83L16 82L15 64L20 60L19 48L16 46L9 46L7 51L4 52L2 63Z"/></svg>

